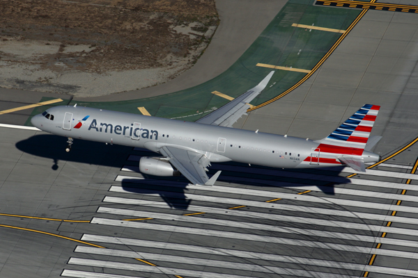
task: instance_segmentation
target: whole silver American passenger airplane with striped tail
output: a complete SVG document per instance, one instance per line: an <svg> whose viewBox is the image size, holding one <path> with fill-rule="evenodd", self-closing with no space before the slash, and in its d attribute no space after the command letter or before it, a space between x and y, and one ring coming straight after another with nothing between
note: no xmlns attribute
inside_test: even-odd
<svg viewBox="0 0 418 278"><path fill-rule="evenodd" d="M212 186L221 171L208 177L210 163L235 161L279 168L349 166L365 172L364 163L380 161L370 152L380 136L371 129L380 106L365 104L329 136L309 140L271 133L233 129L246 115L249 102L268 85L274 71L256 87L228 104L185 122L77 106L56 106L31 119L33 126L68 138L146 148L162 157L141 157L145 174L173 177L183 174L192 184Z"/></svg>

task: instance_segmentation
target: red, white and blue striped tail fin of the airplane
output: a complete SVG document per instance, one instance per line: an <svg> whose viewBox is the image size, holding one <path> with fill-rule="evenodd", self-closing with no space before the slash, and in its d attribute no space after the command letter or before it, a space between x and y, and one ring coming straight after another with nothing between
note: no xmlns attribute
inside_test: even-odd
<svg viewBox="0 0 418 278"><path fill-rule="evenodd" d="M362 156L379 109L380 106L365 104L329 136L315 141L318 147L301 164L314 162L326 167L341 164L337 158L341 155Z"/></svg>

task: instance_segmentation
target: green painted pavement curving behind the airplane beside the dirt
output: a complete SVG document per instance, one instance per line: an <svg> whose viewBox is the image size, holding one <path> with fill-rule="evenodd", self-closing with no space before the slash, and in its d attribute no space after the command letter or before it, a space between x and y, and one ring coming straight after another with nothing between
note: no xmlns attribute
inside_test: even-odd
<svg viewBox="0 0 418 278"><path fill-rule="evenodd" d="M359 13L359 10L314 6L314 0L290 0L251 47L215 79L187 90L148 99L111 102L70 101L70 105L77 103L78 106L136 114L140 114L138 107L144 106L153 116L180 117L182 120L196 121L228 102L211 92L217 90L225 95L238 97L257 85L272 70L257 67L257 63L311 70L341 36L341 33L310 31L293 27L292 24L314 24L318 27L346 30ZM251 101L251 104L262 104L280 95L305 75L306 73L301 72L276 70L268 88ZM40 109L45 110L35 109L32 115L36 115Z"/></svg>

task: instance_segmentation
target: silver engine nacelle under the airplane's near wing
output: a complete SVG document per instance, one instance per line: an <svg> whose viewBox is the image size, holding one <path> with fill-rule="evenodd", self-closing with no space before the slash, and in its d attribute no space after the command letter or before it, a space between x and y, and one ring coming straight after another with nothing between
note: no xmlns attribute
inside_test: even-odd
<svg viewBox="0 0 418 278"><path fill-rule="evenodd" d="M175 170L168 161L163 161L159 157L141 157L139 171L160 177L180 176L178 170Z"/></svg>

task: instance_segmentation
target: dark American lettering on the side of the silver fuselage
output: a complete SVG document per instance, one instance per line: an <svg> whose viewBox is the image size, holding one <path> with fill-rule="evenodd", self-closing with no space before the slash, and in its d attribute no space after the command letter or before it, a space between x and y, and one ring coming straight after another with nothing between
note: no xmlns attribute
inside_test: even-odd
<svg viewBox="0 0 418 278"><path fill-rule="evenodd" d="M148 129L141 129L139 127L134 128L134 124L130 124L130 126L121 126L119 124L116 124L115 126L113 124L107 124L105 122L101 122L100 125L98 122L93 119L90 126L88 126L88 130L95 129L95 131L98 132L104 132L104 133L115 133L117 135L123 135L123 136L130 136L135 138L150 138L150 139L158 139L158 131L156 130L148 130Z"/></svg>

